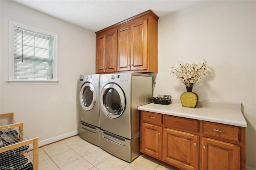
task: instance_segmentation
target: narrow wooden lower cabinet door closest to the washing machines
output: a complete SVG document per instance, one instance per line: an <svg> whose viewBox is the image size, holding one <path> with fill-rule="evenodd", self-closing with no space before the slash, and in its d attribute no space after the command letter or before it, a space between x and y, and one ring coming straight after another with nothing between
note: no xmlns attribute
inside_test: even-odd
<svg viewBox="0 0 256 170"><path fill-rule="evenodd" d="M162 127L142 123L140 151L154 158L162 158Z"/></svg>

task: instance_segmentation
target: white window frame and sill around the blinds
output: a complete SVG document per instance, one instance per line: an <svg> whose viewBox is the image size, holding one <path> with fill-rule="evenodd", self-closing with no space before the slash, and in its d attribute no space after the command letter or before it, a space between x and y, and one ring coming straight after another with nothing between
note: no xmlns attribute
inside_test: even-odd
<svg viewBox="0 0 256 170"><path fill-rule="evenodd" d="M54 37L54 79L49 80L17 80L14 79L14 27L25 28L33 32L40 32ZM9 85L48 85L58 83L58 34L20 24L9 20L9 56L8 56Z"/></svg>

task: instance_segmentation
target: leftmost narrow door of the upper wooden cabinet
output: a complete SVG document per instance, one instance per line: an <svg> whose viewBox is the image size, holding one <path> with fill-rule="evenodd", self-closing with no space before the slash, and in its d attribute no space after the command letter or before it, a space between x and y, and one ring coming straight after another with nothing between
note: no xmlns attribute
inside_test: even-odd
<svg viewBox="0 0 256 170"><path fill-rule="evenodd" d="M105 58L106 58L106 36L97 35L96 37L96 73L105 72Z"/></svg>

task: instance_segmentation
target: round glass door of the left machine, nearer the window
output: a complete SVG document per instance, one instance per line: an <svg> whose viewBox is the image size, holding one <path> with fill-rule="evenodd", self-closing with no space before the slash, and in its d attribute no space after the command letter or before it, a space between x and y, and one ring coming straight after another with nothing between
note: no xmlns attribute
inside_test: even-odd
<svg viewBox="0 0 256 170"><path fill-rule="evenodd" d="M96 103L96 92L94 86L87 82L80 90L79 100L82 108L90 111Z"/></svg>

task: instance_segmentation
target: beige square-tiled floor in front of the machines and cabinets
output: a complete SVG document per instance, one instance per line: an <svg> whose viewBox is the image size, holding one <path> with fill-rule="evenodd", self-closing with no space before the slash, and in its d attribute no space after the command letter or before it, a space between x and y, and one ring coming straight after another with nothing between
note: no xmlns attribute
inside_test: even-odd
<svg viewBox="0 0 256 170"><path fill-rule="evenodd" d="M39 170L176 170L141 154L125 162L100 147L73 136L39 148Z"/></svg>

